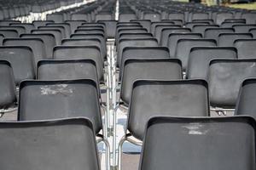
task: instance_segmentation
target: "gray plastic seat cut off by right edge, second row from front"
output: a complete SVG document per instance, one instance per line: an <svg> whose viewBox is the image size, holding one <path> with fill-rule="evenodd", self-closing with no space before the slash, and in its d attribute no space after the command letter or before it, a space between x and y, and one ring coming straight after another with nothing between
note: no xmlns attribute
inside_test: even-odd
<svg viewBox="0 0 256 170"><path fill-rule="evenodd" d="M249 78L242 82L238 99L236 101L235 115L249 115L253 116L254 118L256 117L255 92L255 78Z"/></svg>

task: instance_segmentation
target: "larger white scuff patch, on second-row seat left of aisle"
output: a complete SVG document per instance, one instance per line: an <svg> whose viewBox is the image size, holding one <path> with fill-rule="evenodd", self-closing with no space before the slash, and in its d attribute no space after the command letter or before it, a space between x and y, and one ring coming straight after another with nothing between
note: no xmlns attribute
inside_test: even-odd
<svg viewBox="0 0 256 170"><path fill-rule="evenodd" d="M73 94L73 88L68 88L67 84L58 84L53 86L43 86L41 87L42 95L55 95L55 94Z"/></svg>

